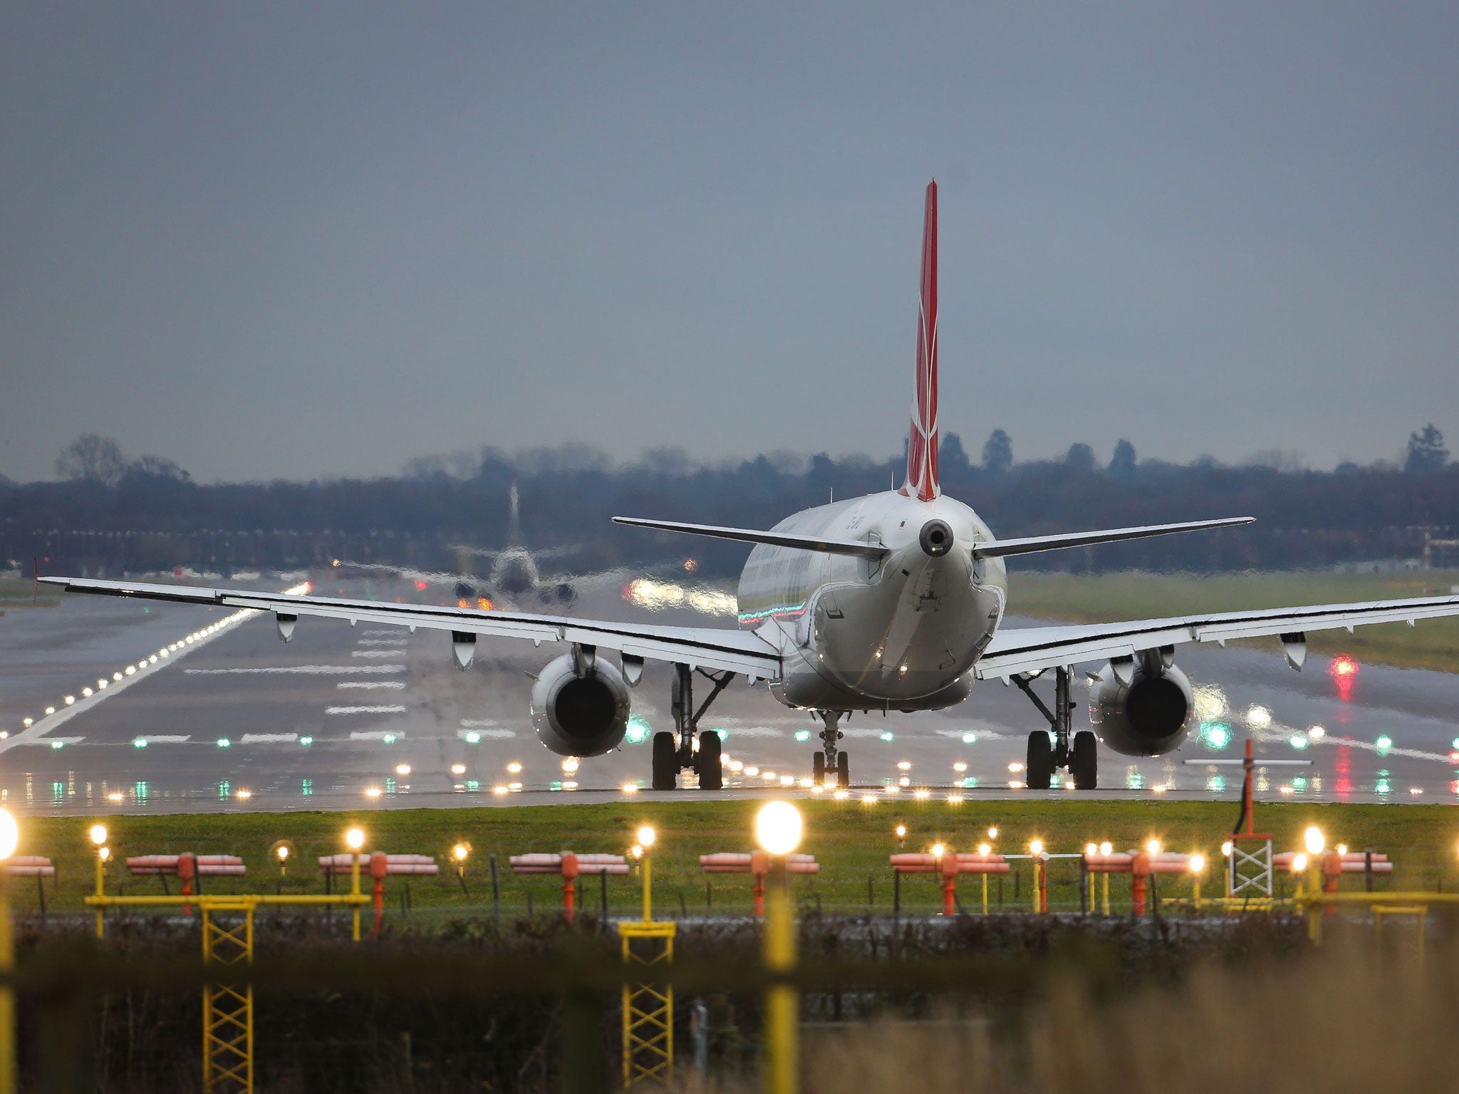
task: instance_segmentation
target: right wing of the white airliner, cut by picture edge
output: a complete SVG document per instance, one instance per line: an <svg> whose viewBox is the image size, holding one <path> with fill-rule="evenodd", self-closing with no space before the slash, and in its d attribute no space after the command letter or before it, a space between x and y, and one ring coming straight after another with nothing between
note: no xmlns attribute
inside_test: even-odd
<svg viewBox="0 0 1459 1094"><path fill-rule="evenodd" d="M1459 597L1411 597L1366 604L1315 604L1301 608L1261 608L1226 611L1211 616L1147 618L1128 623L1093 623L1064 627L1014 627L994 635L978 661L980 678L1045 668L1077 665L1084 661L1128 658L1145 649L1176 646L1185 642L1217 642L1275 635L1288 648L1288 659L1300 667L1306 656L1306 632L1370 623L1408 623L1421 618L1459 616Z"/></svg>

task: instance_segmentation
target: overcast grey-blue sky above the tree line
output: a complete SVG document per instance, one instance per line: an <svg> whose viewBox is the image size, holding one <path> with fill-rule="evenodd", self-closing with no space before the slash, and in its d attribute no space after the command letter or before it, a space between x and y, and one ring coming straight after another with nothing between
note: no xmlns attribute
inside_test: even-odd
<svg viewBox="0 0 1459 1094"><path fill-rule="evenodd" d="M1459 441L1455 4L0 12L0 474ZM1456 445L1459 448L1459 445Z"/></svg>

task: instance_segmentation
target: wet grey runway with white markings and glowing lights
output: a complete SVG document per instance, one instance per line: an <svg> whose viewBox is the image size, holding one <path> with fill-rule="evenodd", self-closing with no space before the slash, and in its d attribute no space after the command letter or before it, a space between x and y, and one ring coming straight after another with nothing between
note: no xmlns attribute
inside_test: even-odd
<svg viewBox="0 0 1459 1094"><path fill-rule="evenodd" d="M686 607L651 613L620 589L600 582L572 614L731 624ZM315 591L420 595L363 581ZM646 735L673 726L668 670L651 664L635 690L630 741L573 766L538 744L528 710L530 674L560 652L483 639L461 672L439 632L301 618L286 645L271 616L251 613L104 597L12 610L0 617L0 795L19 811L73 814L519 805L646 786ZM1154 760L1102 748L1099 794L1233 799L1240 767L1211 761L1237 759L1252 735L1259 760L1310 760L1259 766L1266 798L1459 799L1456 675L1360 665L1344 678L1319 656L1294 672L1275 640L1269 649L1182 648L1177 661L1196 688L1195 731ZM1036 687L1052 696L1052 680ZM1087 697L1083 683L1075 696ZM856 794L1072 796L1018 785L1024 741L1040 725L1017 688L989 681L944 712L854 715L843 747ZM1075 726L1085 725L1077 712ZM738 764L722 794L808 794L798 780L810 775L816 723L763 686L735 681L702 728L722 729Z"/></svg>

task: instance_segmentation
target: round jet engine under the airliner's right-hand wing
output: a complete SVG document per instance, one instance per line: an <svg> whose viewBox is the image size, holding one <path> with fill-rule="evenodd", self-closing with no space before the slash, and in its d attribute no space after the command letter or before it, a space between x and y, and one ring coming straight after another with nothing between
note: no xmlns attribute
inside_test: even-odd
<svg viewBox="0 0 1459 1094"><path fill-rule="evenodd" d="M1090 688L1090 725L1125 756L1164 756L1186 738L1195 696L1185 672L1157 651L1119 670L1106 665Z"/></svg>

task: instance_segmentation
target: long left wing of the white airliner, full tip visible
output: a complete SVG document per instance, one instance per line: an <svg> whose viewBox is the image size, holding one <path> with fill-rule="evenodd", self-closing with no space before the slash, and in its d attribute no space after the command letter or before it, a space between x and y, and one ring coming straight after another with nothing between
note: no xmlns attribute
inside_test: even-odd
<svg viewBox="0 0 1459 1094"><path fill-rule="evenodd" d="M67 592L254 608L283 617L322 616L349 620L352 626L355 623L385 623L411 630L429 627L458 635L519 637L534 643L573 642L598 649L616 649L629 656L652 661L743 672L757 680L779 680L781 677L778 649L753 633L721 627L659 627L643 623L604 623L568 616L438 608L423 604L337 600L245 589L204 589L191 585L146 585L88 578L39 578L39 581L47 585L60 585Z"/></svg>

